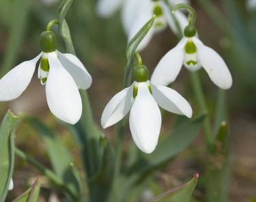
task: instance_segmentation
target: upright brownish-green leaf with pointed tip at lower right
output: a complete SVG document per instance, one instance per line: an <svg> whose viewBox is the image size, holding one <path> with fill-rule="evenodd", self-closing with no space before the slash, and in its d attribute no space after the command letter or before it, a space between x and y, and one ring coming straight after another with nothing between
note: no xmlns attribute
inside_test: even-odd
<svg viewBox="0 0 256 202"><path fill-rule="evenodd" d="M228 201L229 193L229 143L228 129L225 121L221 124L213 152L207 163L206 195L208 202Z"/></svg>

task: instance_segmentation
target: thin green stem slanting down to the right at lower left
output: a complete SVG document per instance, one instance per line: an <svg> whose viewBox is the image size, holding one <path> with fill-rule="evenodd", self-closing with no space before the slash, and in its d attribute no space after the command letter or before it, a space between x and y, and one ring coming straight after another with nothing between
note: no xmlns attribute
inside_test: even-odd
<svg viewBox="0 0 256 202"><path fill-rule="evenodd" d="M37 168L42 175L46 175L48 177L48 179L51 180L51 182L53 182L54 184L56 184L57 186L61 187L63 190L65 190L66 192L68 192L68 194L70 194L70 196L72 196L72 198L76 199L76 197L74 196L74 194L72 194L72 192L68 189L68 187L66 186L66 184L63 183L62 179L59 178L55 173L53 173L53 171L47 169L46 167L44 167L44 165L40 164L40 162L38 162L37 160L35 160L34 158L32 158L31 156L29 156L28 154L25 154L24 152L22 152L20 149L15 148L14 149L14 153L16 154L16 156L18 156L19 158L25 160L26 162L28 162L29 164L32 164L35 168Z"/></svg>

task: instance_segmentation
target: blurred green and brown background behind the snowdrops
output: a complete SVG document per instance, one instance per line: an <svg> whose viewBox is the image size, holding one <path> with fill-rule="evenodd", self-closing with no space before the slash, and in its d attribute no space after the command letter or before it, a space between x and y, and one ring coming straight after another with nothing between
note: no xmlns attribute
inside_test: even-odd
<svg viewBox="0 0 256 202"><path fill-rule="evenodd" d="M83 61L93 77L88 90L96 122L110 98L122 89L122 78L126 64L126 35L122 28L120 12L111 18L102 19L96 14L96 0L76 0L66 18L76 54ZM248 6L245 0L192 1L197 12L197 29L201 40L220 53L233 76L233 87L227 91L229 104L230 133L230 201L256 201L256 8ZM1 76L18 63L32 59L40 52L39 36L48 21L56 18L58 0L1 0L0 1L0 72ZM56 29L57 31L57 29ZM160 58L177 44L177 37L166 29L154 35L150 45L141 53L143 63L150 72ZM59 38L59 51L65 51ZM210 114L214 114L217 87L208 75L200 71L203 89L207 96ZM22 76L22 75L21 75ZM193 97L188 71L183 68L177 81L172 85L184 98L197 103ZM46 104L44 86L36 75L20 98L1 103L1 118L7 109L16 114L27 113L43 119L48 126L56 128L79 164L79 152L72 136L51 115ZM171 129L175 115L164 114L162 133ZM111 141L115 140L115 127L104 131ZM131 141L130 132L126 134ZM21 124L16 132L16 145L49 166L44 146L35 132ZM171 162L165 171L156 173L159 187L168 190L177 186L187 173L200 173L197 158L207 158L203 147L203 135ZM31 178L38 171L16 158L14 190L10 199L25 190ZM188 176L188 175L186 175ZM42 201L57 200L61 194L44 185ZM200 183L195 195L201 196ZM60 195L60 196L59 196ZM44 199L43 199L44 198Z"/></svg>

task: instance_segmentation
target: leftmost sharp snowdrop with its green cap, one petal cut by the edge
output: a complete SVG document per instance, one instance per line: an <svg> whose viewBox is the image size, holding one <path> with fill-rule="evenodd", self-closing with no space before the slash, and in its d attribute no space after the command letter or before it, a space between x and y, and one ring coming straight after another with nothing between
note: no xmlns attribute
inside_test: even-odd
<svg viewBox="0 0 256 202"><path fill-rule="evenodd" d="M40 61L38 78L46 86L49 109L62 121L76 124L82 113L79 89L90 87L91 76L76 56L56 50L56 36L53 31L44 31L40 44L42 53L34 59L20 63L1 78L0 101L18 98L29 85L36 63Z"/></svg>

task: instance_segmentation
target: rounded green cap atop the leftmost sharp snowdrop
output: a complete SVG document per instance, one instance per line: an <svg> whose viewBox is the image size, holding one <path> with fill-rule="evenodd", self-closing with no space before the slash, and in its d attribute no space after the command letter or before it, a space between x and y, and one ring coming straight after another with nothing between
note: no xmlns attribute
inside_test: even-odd
<svg viewBox="0 0 256 202"><path fill-rule="evenodd" d="M40 35L40 46L44 53L51 53L56 50L56 35L53 31L44 31Z"/></svg>

